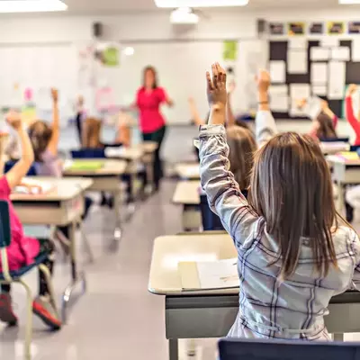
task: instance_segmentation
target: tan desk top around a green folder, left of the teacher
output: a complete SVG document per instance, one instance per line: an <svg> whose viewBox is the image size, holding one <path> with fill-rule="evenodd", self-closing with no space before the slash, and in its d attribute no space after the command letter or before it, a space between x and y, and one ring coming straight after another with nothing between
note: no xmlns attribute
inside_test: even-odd
<svg viewBox="0 0 360 360"><path fill-rule="evenodd" d="M80 160L80 159L79 159ZM122 160L112 160L112 159L98 159L98 158L86 158L81 159L82 162L102 162L103 167L97 170L71 170L69 167L71 166L73 160L67 160L64 164L64 175L78 175L78 176L113 176L113 175L122 175L126 170L126 161Z"/></svg>

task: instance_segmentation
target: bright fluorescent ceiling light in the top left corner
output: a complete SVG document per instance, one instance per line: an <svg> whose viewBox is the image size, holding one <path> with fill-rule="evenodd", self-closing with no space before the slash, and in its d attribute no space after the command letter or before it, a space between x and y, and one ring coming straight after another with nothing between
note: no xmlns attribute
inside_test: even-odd
<svg viewBox="0 0 360 360"><path fill-rule="evenodd" d="M43 13L67 10L60 0L0 0L0 13Z"/></svg>

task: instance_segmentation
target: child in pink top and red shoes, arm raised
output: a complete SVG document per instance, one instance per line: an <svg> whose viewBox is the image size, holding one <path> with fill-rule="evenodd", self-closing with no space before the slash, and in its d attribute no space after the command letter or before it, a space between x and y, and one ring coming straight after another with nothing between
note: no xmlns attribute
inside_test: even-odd
<svg viewBox="0 0 360 360"><path fill-rule="evenodd" d="M28 238L23 234L23 225L17 217L13 204L10 200L10 193L15 186L22 183L33 162L34 155L31 147L31 141L26 130L23 129L21 117L16 112L10 112L7 121L18 133L22 157L14 165L14 167L0 178L0 199L9 203L9 215L11 226L11 244L6 248L10 270L17 270L23 266L29 266L34 258L40 252L47 251L49 256L44 261L44 265L49 268L52 275L54 264L54 245L49 239L38 240L36 238ZM1 285L0 295L0 320L9 325L17 324L17 317L12 307L10 284ZM45 275L39 271L39 296L32 303L34 314L49 326L50 329L60 329L61 320L58 319L57 311L50 300L49 287Z"/></svg>

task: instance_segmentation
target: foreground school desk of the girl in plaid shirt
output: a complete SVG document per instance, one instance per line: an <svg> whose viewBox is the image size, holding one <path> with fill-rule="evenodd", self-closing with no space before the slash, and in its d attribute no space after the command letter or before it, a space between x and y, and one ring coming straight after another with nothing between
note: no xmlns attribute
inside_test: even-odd
<svg viewBox="0 0 360 360"><path fill-rule="evenodd" d="M221 338L228 334L238 314L238 289L184 292L177 264L180 261L213 261L237 257L228 234L204 232L156 238L148 291L165 296L166 338L169 359L178 359L179 338ZM360 332L360 293L334 297L325 317L330 333L341 339Z"/></svg>

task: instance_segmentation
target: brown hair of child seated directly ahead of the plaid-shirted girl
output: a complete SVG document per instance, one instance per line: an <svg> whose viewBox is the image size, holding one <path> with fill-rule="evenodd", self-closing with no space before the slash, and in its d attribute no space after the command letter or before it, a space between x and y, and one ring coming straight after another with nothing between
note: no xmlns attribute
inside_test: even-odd
<svg viewBox="0 0 360 360"><path fill-rule="evenodd" d="M234 174L240 189L246 190L254 164L254 151L257 149L257 142L250 130L237 125L229 127L226 132L230 171Z"/></svg>

